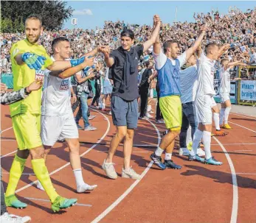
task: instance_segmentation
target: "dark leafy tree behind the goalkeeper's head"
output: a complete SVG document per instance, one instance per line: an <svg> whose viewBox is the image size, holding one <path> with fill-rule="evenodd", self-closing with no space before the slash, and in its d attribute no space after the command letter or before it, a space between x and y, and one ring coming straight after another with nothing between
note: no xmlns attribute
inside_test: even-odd
<svg viewBox="0 0 256 223"><path fill-rule="evenodd" d="M1 21L7 18L15 23L22 17L22 22L29 15L39 15L45 29L61 29L64 21L73 13L72 7L67 7L66 1L1 1ZM17 31L17 30L14 30Z"/></svg>

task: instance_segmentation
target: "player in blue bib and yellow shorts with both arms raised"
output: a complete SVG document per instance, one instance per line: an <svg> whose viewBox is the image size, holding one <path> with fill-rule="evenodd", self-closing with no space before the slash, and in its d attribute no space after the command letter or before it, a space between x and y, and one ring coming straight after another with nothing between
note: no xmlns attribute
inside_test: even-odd
<svg viewBox="0 0 256 223"><path fill-rule="evenodd" d="M162 52L159 37L153 44L153 57L158 72L160 87L159 105L162 116L165 120L167 134L162 138L161 144L151 155L151 159L160 169L181 169L181 166L173 162L172 153L176 136L181 131L182 107L181 107L181 87L180 87L180 68L196 52L198 46L204 38L206 27L201 26L201 34L195 44L179 55L178 43L174 40L167 40ZM165 162L162 163L162 153L165 151Z"/></svg>

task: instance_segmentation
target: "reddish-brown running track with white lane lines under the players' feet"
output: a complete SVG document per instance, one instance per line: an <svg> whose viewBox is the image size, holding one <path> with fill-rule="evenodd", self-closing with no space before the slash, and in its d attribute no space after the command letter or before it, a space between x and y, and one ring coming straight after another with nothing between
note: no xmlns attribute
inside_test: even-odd
<svg viewBox="0 0 256 223"><path fill-rule="evenodd" d="M149 155L165 130L163 124L139 121L131 164L143 174L142 180L109 180L101 165L114 135L111 116L97 115L91 124L97 131L80 131L80 155L86 183L97 184L87 194L75 192L75 178L69 165L66 144L52 149L47 167L52 183L63 197L78 199L78 205L53 214L44 191L35 188L36 180L27 160L18 183L17 196L29 205L10 213L29 215L32 222L256 222L256 118L230 115L229 135L212 138L212 154L223 166L188 162L175 150L173 160L181 170L161 171L152 166ZM1 168L4 188L17 147L8 106L1 106ZM82 124L82 121L81 121ZM114 157L119 176L122 171L122 146Z"/></svg>

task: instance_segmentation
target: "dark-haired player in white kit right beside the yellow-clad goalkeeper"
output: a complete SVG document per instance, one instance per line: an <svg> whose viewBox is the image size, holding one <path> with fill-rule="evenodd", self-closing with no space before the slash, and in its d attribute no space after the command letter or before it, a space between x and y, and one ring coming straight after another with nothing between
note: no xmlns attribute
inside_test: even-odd
<svg viewBox="0 0 256 223"><path fill-rule="evenodd" d="M71 53L69 40L66 38L56 38L52 41L52 60L68 60ZM95 52L94 54L96 54ZM94 54L91 54L93 56ZM88 55L89 56L89 55ZM93 64L94 58L89 60L86 66ZM83 69L85 66L81 67ZM41 139L44 144L45 159L49 150L58 139L65 139L69 145L70 163L75 174L77 193L92 191L97 185L88 185L83 181L81 162L79 156L80 144L78 141L78 130L71 107L71 76L79 70L70 71L69 75L62 75L65 71L44 72L44 93L42 98L41 116ZM66 71L67 72L67 71ZM38 181L37 187L44 190Z"/></svg>

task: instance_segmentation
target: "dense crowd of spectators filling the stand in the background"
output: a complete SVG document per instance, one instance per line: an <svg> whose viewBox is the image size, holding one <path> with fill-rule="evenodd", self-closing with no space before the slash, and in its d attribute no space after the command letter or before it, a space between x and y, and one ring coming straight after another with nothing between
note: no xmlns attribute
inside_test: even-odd
<svg viewBox="0 0 256 223"><path fill-rule="evenodd" d="M224 44L230 43L231 50L224 55L230 61L241 60L243 63L250 63L256 58L256 7L253 10L241 12L237 8L229 8L229 13L220 15L218 10L211 13L194 14L193 22L174 22L173 24L162 24L160 38L165 40L178 40L181 52L190 47L198 36L199 26L207 24L210 29L203 40L203 47L207 43L215 42ZM152 26L128 24L124 21L105 21L103 28L95 29L61 29L57 31L46 31L41 36L41 44L51 54L52 40L58 36L69 38L72 43L72 57L80 57L84 52L89 52L94 47L109 45L112 49L120 46L120 32L123 29L132 29L135 34L135 43L148 40L151 35ZM24 39L24 33L3 33L0 37L1 73L11 73L10 47L18 40ZM145 52L141 62L151 60L152 48ZM101 55L98 59L102 60Z"/></svg>

